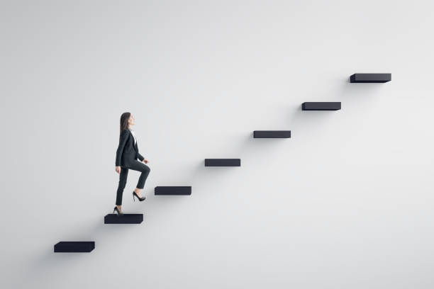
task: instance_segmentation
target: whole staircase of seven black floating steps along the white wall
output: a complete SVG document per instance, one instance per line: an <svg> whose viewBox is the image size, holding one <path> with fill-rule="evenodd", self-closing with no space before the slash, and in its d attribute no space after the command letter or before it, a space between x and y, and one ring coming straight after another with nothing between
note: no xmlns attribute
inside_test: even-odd
<svg viewBox="0 0 434 289"><path fill-rule="evenodd" d="M350 76L351 83L384 83L391 81L390 73L356 73ZM340 102L305 102L301 105L303 111L338 111ZM255 130L254 138L289 138L291 130ZM205 159L205 166L241 166L241 159ZM191 195L191 186L156 186L157 196ZM104 224L140 224L143 214L109 214L104 217ZM58 242L54 246L56 253L90 252L95 248L95 242Z"/></svg>

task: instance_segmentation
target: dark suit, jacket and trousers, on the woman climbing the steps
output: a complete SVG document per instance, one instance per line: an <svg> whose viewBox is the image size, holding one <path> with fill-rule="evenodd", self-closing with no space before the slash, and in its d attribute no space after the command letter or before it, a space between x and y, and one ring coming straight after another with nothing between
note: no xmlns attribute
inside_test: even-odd
<svg viewBox="0 0 434 289"><path fill-rule="evenodd" d="M140 159L138 162L137 159ZM137 142L134 144L134 137L130 130L122 130L119 137L119 145L116 150L116 166L121 166L121 173L119 174L118 191L116 192L116 205L122 205L123 189L126 186L128 177L128 169L141 171L140 178L136 188L143 188L145 181L150 173L150 168L143 162L143 156L138 152Z"/></svg>

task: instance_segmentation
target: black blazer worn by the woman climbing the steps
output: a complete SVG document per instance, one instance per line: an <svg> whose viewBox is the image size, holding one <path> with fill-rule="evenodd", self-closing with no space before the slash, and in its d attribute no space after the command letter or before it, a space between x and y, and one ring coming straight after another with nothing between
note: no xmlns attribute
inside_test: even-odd
<svg viewBox="0 0 434 289"><path fill-rule="evenodd" d="M137 159L140 159L141 162L144 158L138 152L137 143L134 145L133 135L128 129L122 130L119 146L116 150L116 166L128 166Z"/></svg>

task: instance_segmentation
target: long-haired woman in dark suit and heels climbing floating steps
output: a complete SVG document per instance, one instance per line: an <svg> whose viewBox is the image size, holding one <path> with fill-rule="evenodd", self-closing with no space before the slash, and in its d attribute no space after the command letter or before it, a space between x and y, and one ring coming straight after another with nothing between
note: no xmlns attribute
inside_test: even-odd
<svg viewBox="0 0 434 289"><path fill-rule="evenodd" d="M131 113L122 113L121 115L121 134L119 135L119 145L116 150L116 172L119 174L118 191L116 192L116 207L113 209L113 214L116 211L118 215L123 215L122 212L122 194L126 185L128 170L140 171L140 178L137 187L133 191L133 200L143 201L145 197L140 195L140 190L145 186L145 181L150 172L148 160L145 159L139 152L135 133L131 130L134 125L134 118ZM140 159L140 162L137 160ZM143 162L145 164L143 164Z"/></svg>

